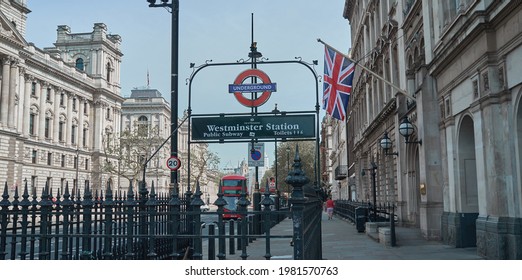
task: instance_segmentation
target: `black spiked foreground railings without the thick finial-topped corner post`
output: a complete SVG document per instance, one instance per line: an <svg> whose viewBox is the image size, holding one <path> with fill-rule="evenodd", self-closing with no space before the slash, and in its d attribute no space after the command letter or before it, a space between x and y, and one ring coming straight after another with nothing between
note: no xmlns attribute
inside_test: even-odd
<svg viewBox="0 0 522 280"><path fill-rule="evenodd" d="M113 193L108 186L104 195L92 195L86 186L80 197L70 193L68 187L63 195L53 196L45 187L38 197L35 193L29 195L26 185L21 193L19 196L16 188L10 197L4 187L0 200L0 259L202 259L204 255L208 259L226 259L225 239L234 240L232 246L244 250L248 242L266 237L248 230L252 219L219 219L220 207L216 212L201 213L199 207L193 207L197 204L195 198L201 195L199 191L180 199L177 195L155 194L152 188L145 198L138 198L132 187ZM261 221L269 227L290 213L288 208L267 210ZM248 212L245 216L254 214L261 213ZM213 216L215 222L207 225L202 216ZM270 221L265 223L267 217ZM208 229L205 232L204 226ZM221 230L225 227L230 231ZM291 235L280 238L289 239ZM206 252L204 240L209 241ZM217 251L210 246L220 242ZM236 253L235 249L230 252Z"/></svg>

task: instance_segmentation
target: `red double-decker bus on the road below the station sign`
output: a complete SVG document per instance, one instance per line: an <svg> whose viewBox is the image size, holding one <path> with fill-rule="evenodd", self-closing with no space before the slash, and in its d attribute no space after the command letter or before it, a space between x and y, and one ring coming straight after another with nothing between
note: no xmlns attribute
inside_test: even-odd
<svg viewBox="0 0 522 280"><path fill-rule="evenodd" d="M223 194L223 199L227 202L223 214L223 219L237 219L241 216L235 212L238 210L237 202L241 196L241 193L247 193L247 182L245 176L241 175L225 175L221 178L219 184L219 192Z"/></svg>

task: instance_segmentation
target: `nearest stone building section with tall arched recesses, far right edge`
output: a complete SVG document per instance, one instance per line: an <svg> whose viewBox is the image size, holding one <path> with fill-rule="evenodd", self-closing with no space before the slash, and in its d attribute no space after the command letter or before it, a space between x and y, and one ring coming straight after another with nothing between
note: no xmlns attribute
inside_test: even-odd
<svg viewBox="0 0 522 280"><path fill-rule="evenodd" d="M433 7L441 16L429 67L441 116L443 239L522 259L522 5L447 4Z"/></svg>

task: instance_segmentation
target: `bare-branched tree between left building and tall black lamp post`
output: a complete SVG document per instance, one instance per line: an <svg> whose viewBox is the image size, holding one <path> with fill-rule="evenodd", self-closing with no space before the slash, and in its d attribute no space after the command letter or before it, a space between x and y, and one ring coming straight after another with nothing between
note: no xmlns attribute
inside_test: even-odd
<svg viewBox="0 0 522 280"><path fill-rule="evenodd" d="M129 183L136 186L141 180L145 161L159 148L165 138L160 136L158 126L150 128L148 124L135 122L132 128L125 129L120 135L106 133L102 141L105 158L102 171L126 178ZM162 149L167 151L165 146Z"/></svg>

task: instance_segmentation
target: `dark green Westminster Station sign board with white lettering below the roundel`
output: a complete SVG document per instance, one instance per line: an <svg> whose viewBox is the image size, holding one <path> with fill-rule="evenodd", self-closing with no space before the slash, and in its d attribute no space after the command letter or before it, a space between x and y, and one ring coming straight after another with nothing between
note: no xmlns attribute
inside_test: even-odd
<svg viewBox="0 0 522 280"><path fill-rule="evenodd" d="M315 115L195 117L192 140L313 138Z"/></svg>

